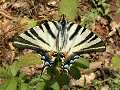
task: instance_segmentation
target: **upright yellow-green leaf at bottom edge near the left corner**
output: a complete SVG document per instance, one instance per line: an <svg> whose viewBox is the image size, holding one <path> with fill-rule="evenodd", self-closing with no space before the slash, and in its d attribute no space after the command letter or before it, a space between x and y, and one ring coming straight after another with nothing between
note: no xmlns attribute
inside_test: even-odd
<svg viewBox="0 0 120 90"><path fill-rule="evenodd" d="M9 80L6 90L17 90L17 80L15 78Z"/></svg>

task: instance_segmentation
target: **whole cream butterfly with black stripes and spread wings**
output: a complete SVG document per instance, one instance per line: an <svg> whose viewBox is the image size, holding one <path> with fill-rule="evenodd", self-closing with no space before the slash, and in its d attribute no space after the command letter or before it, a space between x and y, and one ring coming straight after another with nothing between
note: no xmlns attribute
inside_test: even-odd
<svg viewBox="0 0 120 90"><path fill-rule="evenodd" d="M70 67L81 54L105 50L104 42L96 34L64 17L21 33L13 39L13 46L35 50L49 66L59 54L64 68Z"/></svg>

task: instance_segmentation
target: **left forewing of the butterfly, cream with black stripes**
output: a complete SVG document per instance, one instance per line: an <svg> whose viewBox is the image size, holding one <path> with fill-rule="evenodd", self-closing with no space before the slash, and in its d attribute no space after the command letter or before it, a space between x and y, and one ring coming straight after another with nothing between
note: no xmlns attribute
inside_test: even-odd
<svg viewBox="0 0 120 90"><path fill-rule="evenodd" d="M13 45L19 49L33 49L40 54L43 52L56 51L58 29L57 22L45 22L40 26L33 27L17 38L13 39Z"/></svg>

